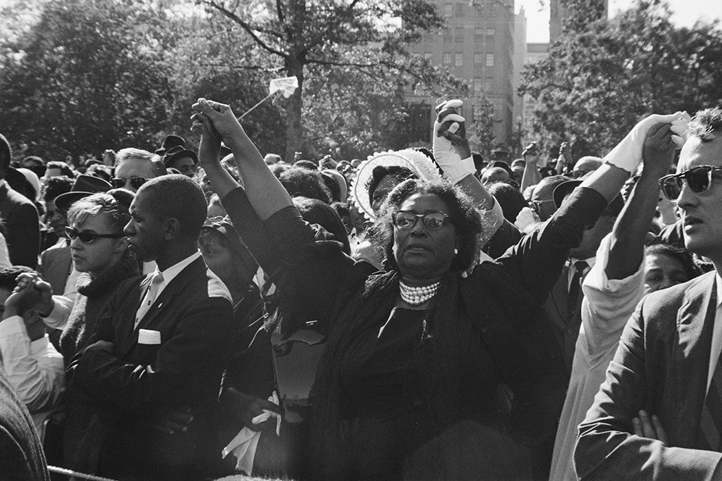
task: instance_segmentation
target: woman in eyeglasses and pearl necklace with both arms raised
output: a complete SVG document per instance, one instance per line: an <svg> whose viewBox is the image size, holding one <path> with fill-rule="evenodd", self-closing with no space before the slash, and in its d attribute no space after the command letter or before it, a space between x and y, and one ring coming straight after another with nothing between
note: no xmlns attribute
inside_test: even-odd
<svg viewBox="0 0 722 481"><path fill-rule="evenodd" d="M530 453L552 436L565 389L541 302L629 173L605 164L542 229L469 275L480 231L469 198L447 182L406 180L376 223L389 270L373 273L300 219L230 107L201 99L193 110L206 173L287 293L282 334L313 319L328 336L311 400L313 479L532 477ZM436 143L455 149L463 126L442 105ZM220 138L245 187L219 166ZM483 195L465 161L440 162L436 147L445 174Z"/></svg>

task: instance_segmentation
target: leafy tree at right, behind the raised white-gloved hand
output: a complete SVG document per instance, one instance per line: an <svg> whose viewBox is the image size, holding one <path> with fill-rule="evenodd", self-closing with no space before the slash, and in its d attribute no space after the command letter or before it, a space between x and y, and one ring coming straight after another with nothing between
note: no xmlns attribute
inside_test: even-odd
<svg viewBox="0 0 722 481"><path fill-rule="evenodd" d="M662 0L636 0L607 22L593 0L570 0L565 32L549 56L528 66L520 92L539 100L534 131L547 146L604 155L645 115L722 100L722 33L717 24L677 28Z"/></svg>

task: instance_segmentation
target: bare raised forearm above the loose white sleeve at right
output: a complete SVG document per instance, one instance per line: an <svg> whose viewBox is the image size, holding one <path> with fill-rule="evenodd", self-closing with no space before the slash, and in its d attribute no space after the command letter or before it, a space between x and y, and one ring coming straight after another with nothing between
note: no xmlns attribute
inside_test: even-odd
<svg viewBox="0 0 722 481"><path fill-rule="evenodd" d="M606 265L607 278L623 279L637 271L656 210L658 190L656 176L643 173L614 224Z"/></svg>

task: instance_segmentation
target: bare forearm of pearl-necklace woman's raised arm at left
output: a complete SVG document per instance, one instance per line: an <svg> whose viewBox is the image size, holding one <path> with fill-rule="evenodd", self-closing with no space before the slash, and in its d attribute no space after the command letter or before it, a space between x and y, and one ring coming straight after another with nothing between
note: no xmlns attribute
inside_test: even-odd
<svg viewBox="0 0 722 481"><path fill-rule="evenodd" d="M282 208L293 205L290 195L266 166L261 153L245 133L226 140L233 152L245 195L262 221Z"/></svg>

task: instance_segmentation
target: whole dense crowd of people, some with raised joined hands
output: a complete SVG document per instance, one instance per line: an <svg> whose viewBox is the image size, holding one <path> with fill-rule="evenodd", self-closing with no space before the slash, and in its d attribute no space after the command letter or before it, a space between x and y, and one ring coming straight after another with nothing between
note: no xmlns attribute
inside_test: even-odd
<svg viewBox="0 0 722 481"><path fill-rule="evenodd" d="M197 149L0 135L0 479L722 480L722 108L547 165L462 107L363 161L205 99Z"/></svg>

